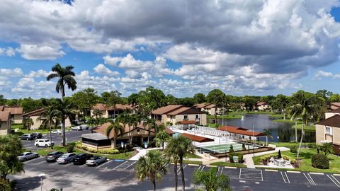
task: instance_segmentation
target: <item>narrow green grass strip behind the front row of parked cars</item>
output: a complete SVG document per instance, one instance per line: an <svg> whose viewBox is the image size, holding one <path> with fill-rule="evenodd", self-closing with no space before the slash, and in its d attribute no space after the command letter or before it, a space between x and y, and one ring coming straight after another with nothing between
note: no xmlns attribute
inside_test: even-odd
<svg viewBox="0 0 340 191"><path fill-rule="evenodd" d="M39 149L38 151L36 151L40 156L46 156L48 153L52 152L52 151L62 151L64 153L67 153L66 147L64 146L53 146L53 149L50 148L46 148L46 149ZM79 149L77 149L76 147L74 147L74 153L76 154L80 154L80 153L89 153L87 151L81 151ZM94 153L89 153L89 154L93 154L96 156L106 156L107 158L110 159L128 159L130 157L132 157L134 155L135 151L130 151L130 152L126 152L124 153L120 153L120 154L94 154Z"/></svg>

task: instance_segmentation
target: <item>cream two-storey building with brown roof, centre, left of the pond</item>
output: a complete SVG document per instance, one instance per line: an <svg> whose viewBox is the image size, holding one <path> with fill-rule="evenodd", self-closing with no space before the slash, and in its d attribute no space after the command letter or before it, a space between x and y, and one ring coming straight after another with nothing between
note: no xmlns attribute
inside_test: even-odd
<svg viewBox="0 0 340 191"><path fill-rule="evenodd" d="M152 111L152 118L164 124L176 125L182 121L195 121L196 125L207 125L205 112L183 105L167 105Z"/></svg>

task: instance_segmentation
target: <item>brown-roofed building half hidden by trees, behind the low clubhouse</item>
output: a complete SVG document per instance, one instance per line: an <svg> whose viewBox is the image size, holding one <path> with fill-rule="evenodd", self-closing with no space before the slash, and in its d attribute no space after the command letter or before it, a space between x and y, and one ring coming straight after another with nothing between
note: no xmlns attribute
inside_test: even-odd
<svg viewBox="0 0 340 191"><path fill-rule="evenodd" d="M96 115L95 110L99 110L101 115ZM91 108L91 117L104 117L104 118L115 118L120 113L124 112L124 110L132 111L133 108L131 105L123 105L123 104L115 104L113 106L108 106L103 103L97 103Z"/></svg>

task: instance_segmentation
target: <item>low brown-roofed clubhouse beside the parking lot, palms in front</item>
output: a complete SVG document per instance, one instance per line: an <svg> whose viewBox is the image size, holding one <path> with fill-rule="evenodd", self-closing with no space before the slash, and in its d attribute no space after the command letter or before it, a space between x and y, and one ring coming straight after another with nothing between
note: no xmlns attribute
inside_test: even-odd
<svg viewBox="0 0 340 191"><path fill-rule="evenodd" d="M157 124L159 125L160 122ZM92 129L91 134L83 134L81 135L81 144L83 146L87 146L93 149L110 149L113 147L113 132L107 137L106 130L111 125L110 122L107 122L99 127ZM124 127L122 123L120 123ZM129 125L125 125L124 134L118 134L117 137L117 145L120 146L121 143L130 145L130 137L132 136L132 145L135 146L144 146L145 142L147 142L148 137L150 136L150 141L154 139L154 129L150 129L149 135L149 126L143 126L142 123L138 124L137 127L130 127Z"/></svg>

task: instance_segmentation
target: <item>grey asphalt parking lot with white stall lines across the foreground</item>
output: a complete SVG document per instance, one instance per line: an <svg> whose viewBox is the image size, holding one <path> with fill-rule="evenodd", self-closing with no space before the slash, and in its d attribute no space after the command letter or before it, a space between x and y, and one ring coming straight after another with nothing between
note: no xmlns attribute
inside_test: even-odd
<svg viewBox="0 0 340 191"><path fill-rule="evenodd" d="M25 170L30 178L18 178L19 190L39 190L39 173L46 174L45 190L51 187L63 187L64 190L150 190L152 184L145 180L140 182L135 175L137 161L111 160L98 166L76 166L73 163L47 163L45 158L26 161ZM174 166L170 164L169 172L164 175L160 190L174 190ZM194 170L209 170L212 166L185 164L187 190L195 190L191 184ZM340 190L340 176L323 173L296 171L263 170L249 168L217 167L219 174L228 175L232 190ZM181 172L179 187L181 187ZM31 183L31 184L28 184ZM29 186L28 186L29 185Z"/></svg>

